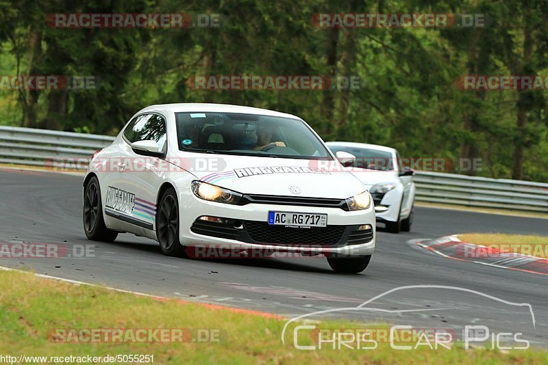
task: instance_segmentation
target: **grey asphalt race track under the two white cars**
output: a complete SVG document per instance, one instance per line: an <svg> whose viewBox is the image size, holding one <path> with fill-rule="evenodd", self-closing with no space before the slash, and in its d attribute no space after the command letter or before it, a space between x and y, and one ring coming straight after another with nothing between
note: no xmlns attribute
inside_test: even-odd
<svg viewBox="0 0 548 365"><path fill-rule="evenodd" d="M400 286L452 286L484 295L451 288L406 288L368 304L377 310L323 315L456 330L486 325L491 332L523 332L532 344L548 347L547 275L449 260L409 242L459 232L548 235L545 219L416 208L412 232L378 232L368 269L340 275L329 269L325 258L190 260L165 257L158 243L132 234L120 234L114 243L88 241L82 228L82 179L0 170L0 243L93 249L92 257L84 258L0 258L0 266L287 317L356 307ZM536 325L526 306L510 302L530 303Z"/></svg>

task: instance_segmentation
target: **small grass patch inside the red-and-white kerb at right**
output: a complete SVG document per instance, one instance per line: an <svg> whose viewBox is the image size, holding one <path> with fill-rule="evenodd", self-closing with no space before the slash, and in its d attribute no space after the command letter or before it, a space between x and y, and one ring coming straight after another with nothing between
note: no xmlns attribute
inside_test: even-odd
<svg viewBox="0 0 548 365"><path fill-rule="evenodd" d="M468 233L459 234L460 241L484 245L502 252L548 258L548 237L523 234Z"/></svg>

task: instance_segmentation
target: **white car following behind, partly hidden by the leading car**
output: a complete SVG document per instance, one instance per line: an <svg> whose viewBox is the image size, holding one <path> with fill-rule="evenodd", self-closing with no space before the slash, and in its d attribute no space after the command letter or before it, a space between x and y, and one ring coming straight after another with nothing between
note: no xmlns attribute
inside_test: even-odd
<svg viewBox="0 0 548 365"><path fill-rule="evenodd" d="M377 221L386 224L388 232L409 232L413 223L415 185L413 170L402 168L394 148L376 144L327 142L332 152L348 152L356 160L352 171L373 195Z"/></svg>

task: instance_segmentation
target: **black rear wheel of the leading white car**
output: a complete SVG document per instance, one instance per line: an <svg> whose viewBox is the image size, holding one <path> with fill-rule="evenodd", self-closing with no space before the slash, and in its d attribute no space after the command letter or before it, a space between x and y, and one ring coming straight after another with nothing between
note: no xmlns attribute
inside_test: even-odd
<svg viewBox="0 0 548 365"><path fill-rule="evenodd" d="M112 242L118 232L109 230L105 226L103 205L101 204L101 189L97 176L93 176L84 191L84 232L92 241Z"/></svg>

